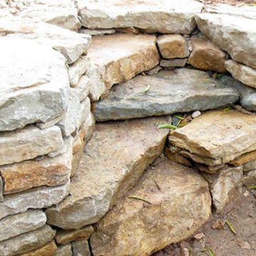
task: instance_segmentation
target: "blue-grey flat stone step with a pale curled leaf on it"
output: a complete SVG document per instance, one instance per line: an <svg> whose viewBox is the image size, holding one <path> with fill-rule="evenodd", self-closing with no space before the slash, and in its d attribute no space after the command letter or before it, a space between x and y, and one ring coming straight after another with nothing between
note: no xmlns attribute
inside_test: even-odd
<svg viewBox="0 0 256 256"><path fill-rule="evenodd" d="M180 68L114 85L109 95L96 103L94 114L97 121L131 119L214 109L238 99L239 92L232 86L203 71Z"/></svg>

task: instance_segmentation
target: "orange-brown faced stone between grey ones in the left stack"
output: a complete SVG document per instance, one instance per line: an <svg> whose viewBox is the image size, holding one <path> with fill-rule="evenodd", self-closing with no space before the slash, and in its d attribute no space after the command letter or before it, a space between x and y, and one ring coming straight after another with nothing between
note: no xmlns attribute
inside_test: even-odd
<svg viewBox="0 0 256 256"><path fill-rule="evenodd" d="M69 149L69 148L68 148ZM4 194L38 186L58 186L69 181L72 148L55 157L42 156L16 164L0 166Z"/></svg>

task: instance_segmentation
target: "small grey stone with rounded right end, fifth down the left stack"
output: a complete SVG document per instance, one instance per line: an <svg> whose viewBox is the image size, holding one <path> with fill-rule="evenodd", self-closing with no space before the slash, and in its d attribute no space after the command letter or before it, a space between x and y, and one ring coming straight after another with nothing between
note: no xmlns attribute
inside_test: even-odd
<svg viewBox="0 0 256 256"><path fill-rule="evenodd" d="M46 213L43 210L27 210L26 213L7 216L0 220L0 241L13 238L46 224Z"/></svg>

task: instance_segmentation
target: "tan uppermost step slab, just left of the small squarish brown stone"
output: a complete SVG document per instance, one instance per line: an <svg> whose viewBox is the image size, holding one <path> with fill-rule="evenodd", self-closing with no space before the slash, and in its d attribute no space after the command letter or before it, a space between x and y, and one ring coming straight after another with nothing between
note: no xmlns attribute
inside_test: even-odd
<svg viewBox="0 0 256 256"><path fill-rule="evenodd" d="M159 64L156 37L129 34L96 36L92 38L86 60L86 75L93 81L90 100L97 101L112 85L130 80Z"/></svg>

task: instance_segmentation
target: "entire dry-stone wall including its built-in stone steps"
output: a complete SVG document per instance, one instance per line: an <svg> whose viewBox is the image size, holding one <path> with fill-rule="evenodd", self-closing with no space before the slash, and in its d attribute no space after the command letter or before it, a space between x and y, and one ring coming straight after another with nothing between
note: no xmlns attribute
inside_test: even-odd
<svg viewBox="0 0 256 256"><path fill-rule="evenodd" d="M0 1L0 255L90 255L94 232L94 255L150 255L203 225L210 193L213 206L222 210L242 182L255 185L255 7L204 7L196 0L131 3ZM230 105L237 110L228 116L223 110L206 112L171 132L165 151L178 164L200 170L209 187L191 168L174 164L164 172L171 168L167 160L144 173L165 147L169 131L159 133L154 126L167 122L162 117L98 124L87 143L95 119ZM108 147L122 138L123 154L116 156ZM174 186L175 193L161 191L157 170L162 186ZM169 183L172 176L191 183ZM132 246L134 228L150 214L124 195L131 188L147 193L144 187L152 182L161 200L149 213L161 215L175 202L176 210L161 215L160 225L178 228L138 228L138 235L153 230L154 238L147 234L150 239ZM186 200L181 191L187 191ZM179 216L193 223L171 222L195 197L194 214ZM124 218L126 213L132 215ZM124 238L120 230L129 235Z"/></svg>

